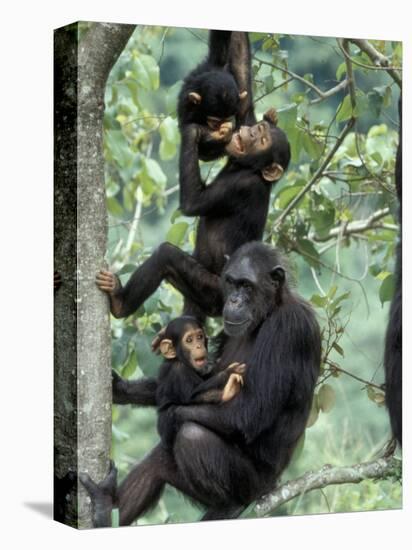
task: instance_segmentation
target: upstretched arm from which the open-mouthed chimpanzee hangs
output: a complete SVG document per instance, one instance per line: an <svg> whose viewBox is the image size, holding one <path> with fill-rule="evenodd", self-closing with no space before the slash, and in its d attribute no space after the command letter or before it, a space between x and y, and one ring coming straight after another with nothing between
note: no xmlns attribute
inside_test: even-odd
<svg viewBox="0 0 412 550"><path fill-rule="evenodd" d="M233 74L239 92L247 91L247 97L241 101L236 116L236 127L256 124L253 108L252 56L247 32L232 32L229 48L229 70Z"/></svg>

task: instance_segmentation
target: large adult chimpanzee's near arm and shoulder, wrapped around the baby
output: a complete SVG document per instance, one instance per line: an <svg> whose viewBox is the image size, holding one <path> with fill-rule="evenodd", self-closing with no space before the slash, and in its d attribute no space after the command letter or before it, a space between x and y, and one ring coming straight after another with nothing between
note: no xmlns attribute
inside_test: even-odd
<svg viewBox="0 0 412 550"><path fill-rule="evenodd" d="M288 304L261 326L245 386L236 399L218 407L178 407L176 425L197 422L218 434L240 433L250 442L288 410L305 422L320 350L319 327L310 308L301 302Z"/></svg>

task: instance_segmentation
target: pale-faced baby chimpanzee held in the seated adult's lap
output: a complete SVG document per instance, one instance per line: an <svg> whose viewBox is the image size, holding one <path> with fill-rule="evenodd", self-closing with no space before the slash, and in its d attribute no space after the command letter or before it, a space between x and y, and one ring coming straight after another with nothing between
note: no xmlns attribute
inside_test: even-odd
<svg viewBox="0 0 412 550"><path fill-rule="evenodd" d="M165 362L157 379L157 429L162 443L170 446L176 431L176 406L229 401L243 385L245 365L233 363L214 374L208 362L206 334L194 317L173 319L159 348Z"/></svg>

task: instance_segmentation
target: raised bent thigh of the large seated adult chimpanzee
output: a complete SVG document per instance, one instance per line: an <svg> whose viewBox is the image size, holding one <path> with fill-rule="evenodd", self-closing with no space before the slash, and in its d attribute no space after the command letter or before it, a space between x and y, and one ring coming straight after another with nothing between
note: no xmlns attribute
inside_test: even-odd
<svg viewBox="0 0 412 550"><path fill-rule="evenodd" d="M260 483L253 463L211 430L185 422L173 450L185 492L210 508L204 519L236 517L256 498Z"/></svg>

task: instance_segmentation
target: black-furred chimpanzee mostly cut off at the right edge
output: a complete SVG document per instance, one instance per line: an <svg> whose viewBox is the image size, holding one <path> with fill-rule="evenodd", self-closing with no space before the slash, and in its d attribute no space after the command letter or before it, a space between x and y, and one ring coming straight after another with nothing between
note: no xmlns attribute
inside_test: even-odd
<svg viewBox="0 0 412 550"><path fill-rule="evenodd" d="M389 312L385 342L386 405L393 435L402 445L402 99L399 98L399 142L395 184L399 200L400 237L396 249L395 295Z"/></svg>

